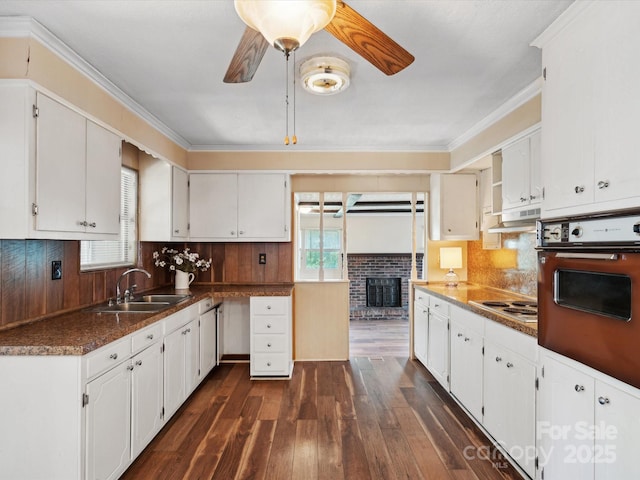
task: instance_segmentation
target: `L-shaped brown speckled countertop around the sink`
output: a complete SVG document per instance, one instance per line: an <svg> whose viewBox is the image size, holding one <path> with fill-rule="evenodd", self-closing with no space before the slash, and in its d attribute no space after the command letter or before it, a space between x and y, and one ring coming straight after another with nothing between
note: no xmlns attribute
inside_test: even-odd
<svg viewBox="0 0 640 480"><path fill-rule="evenodd" d="M89 307L0 331L0 355L85 355L207 297L217 302L225 297L288 296L292 290L293 284L214 284L191 287L188 300L160 312L97 313Z"/></svg>

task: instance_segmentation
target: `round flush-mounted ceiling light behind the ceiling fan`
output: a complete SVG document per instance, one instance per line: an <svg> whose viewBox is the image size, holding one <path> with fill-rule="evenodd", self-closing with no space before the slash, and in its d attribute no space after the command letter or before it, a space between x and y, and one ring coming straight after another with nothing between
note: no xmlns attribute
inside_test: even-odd
<svg viewBox="0 0 640 480"><path fill-rule="evenodd" d="M305 90L314 95L335 95L350 84L349 64L337 57L314 57L300 65Z"/></svg>

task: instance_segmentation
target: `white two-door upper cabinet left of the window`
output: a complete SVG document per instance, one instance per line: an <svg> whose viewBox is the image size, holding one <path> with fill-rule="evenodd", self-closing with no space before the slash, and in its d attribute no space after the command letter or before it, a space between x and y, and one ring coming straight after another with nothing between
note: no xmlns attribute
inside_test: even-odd
<svg viewBox="0 0 640 480"><path fill-rule="evenodd" d="M0 104L0 238L115 238L120 138L20 82Z"/></svg>

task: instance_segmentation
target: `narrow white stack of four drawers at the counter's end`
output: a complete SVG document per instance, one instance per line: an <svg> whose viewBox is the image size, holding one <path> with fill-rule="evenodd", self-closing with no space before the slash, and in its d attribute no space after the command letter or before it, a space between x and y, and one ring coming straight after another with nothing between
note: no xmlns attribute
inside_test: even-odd
<svg viewBox="0 0 640 480"><path fill-rule="evenodd" d="M290 376L291 297L251 297L249 311L251 376Z"/></svg>

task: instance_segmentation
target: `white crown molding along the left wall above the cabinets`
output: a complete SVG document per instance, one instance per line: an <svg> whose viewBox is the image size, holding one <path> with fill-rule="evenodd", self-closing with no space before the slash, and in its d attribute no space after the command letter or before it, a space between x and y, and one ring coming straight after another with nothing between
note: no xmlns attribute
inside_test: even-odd
<svg viewBox="0 0 640 480"><path fill-rule="evenodd" d="M107 77L100 73L100 71L85 61L67 44L35 19L23 16L0 17L0 37L31 37L36 39L171 141L185 150L189 150L191 147L191 144L181 135L169 128L151 112L118 88Z"/></svg>

